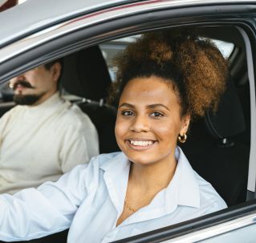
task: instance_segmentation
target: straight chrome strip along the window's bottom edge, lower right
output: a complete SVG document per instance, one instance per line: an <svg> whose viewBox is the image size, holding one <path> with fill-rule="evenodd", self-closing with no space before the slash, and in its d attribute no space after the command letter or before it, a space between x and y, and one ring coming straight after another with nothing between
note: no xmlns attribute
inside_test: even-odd
<svg viewBox="0 0 256 243"><path fill-rule="evenodd" d="M198 230L197 232L189 233L181 237L176 237L168 241L161 241L162 243L191 243L209 239L211 237L216 237L223 233L228 233L235 229L241 229L243 227L256 224L256 213L234 219L232 221L227 221L219 225L214 225L212 227Z"/></svg>

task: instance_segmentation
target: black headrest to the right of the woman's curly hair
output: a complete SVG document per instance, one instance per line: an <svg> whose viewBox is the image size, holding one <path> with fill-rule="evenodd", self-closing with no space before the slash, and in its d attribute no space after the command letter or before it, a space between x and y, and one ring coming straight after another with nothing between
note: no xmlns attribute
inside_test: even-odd
<svg viewBox="0 0 256 243"><path fill-rule="evenodd" d="M245 131L246 122L238 91L232 79L227 82L225 93L221 96L217 112L205 115L207 131L215 139L225 139Z"/></svg>

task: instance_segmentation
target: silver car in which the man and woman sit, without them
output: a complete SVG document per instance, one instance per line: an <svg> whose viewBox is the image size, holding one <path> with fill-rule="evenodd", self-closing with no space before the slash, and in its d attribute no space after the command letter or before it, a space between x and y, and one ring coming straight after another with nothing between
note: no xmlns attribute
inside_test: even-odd
<svg viewBox="0 0 256 243"><path fill-rule="evenodd" d="M114 55L148 31L186 27L213 40L229 60L230 79L217 112L193 121L182 149L229 207L115 242L255 241L255 1L37 0L3 11L0 22L0 115L14 106L8 80L63 57L63 92L94 122L100 152L119 150L116 103L106 103ZM33 242L66 237L67 231Z"/></svg>

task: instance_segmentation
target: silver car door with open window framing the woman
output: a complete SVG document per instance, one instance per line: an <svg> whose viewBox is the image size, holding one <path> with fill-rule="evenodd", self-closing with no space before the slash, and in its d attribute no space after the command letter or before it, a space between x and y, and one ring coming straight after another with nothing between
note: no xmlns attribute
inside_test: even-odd
<svg viewBox="0 0 256 243"><path fill-rule="evenodd" d="M246 241L251 242L254 238L256 218L256 201L254 200L256 184L256 127L254 126L256 124L254 83L256 3L254 1L205 2L194 0L106 1L105 4L102 1L97 6L90 4L84 4L84 6L78 4L77 6L83 6L79 12L73 9L69 14L60 14L60 17L54 18L52 22L49 18L45 23L42 19L37 19L37 25L32 27L28 25L18 34L17 32L11 33L10 30L6 30L6 35L2 33L1 82L6 82L14 75L41 63L69 55L82 48L149 30L165 30L176 26L197 26L205 29L217 27L219 30L223 26L235 28L242 37L242 48L246 54L246 70L242 71L238 67L233 67L234 75L241 73L241 76L247 75L245 79L248 83L250 99L250 128L248 128L250 158L248 161L245 159L245 163L248 163L246 200L242 204L217 213L116 242L223 242L231 240L235 242L244 234L248 240ZM0 21L3 22L9 18L11 13L10 10L0 15ZM17 28L15 26L14 30ZM233 65L239 66L240 64L234 62Z"/></svg>

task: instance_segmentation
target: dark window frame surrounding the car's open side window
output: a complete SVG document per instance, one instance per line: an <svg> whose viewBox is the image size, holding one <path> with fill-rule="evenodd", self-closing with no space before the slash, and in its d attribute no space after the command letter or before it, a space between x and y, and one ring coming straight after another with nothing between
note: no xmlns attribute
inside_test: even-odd
<svg viewBox="0 0 256 243"><path fill-rule="evenodd" d="M41 39L41 42L36 46L30 47L20 55L10 55L9 59L6 59L2 63L2 71L0 71L0 80L2 82L10 79L11 77L22 73L32 67L39 64L46 63L52 59L62 57L63 55L71 54L72 52L79 51L84 47L90 47L94 44L104 43L114 38L122 38L128 35L138 34L146 30L159 30L169 28L170 26L233 26L236 25L240 28L244 37L247 39L247 55L248 51L253 50L251 54L252 64L250 66L250 87L251 87L251 124L255 124L256 120L256 107L255 107L255 87L254 87L254 75L256 71L255 63L253 60L256 58L256 43L254 22L252 22L250 15L256 13L256 5L249 5L244 8L244 13L237 15L237 12L241 13L241 5L217 5L217 6L189 6L184 8L169 10L154 10L152 13L148 13L145 10L141 10L136 14L131 14L125 18L120 19L120 15L116 14L112 19L101 19L97 24L91 24L91 26L79 26L77 30L71 32L59 33L58 36L54 36L51 39ZM145 12L144 12L145 11ZM248 11L248 12L246 12ZM218 13L218 14L216 14ZM244 14L244 15L243 15ZM86 16L86 15L85 15ZM188 17L189 16L189 17ZM51 30L47 30L48 34L51 34ZM28 37L26 38L28 39ZM75 39L75 42L74 42ZM22 42L22 40L17 43ZM248 42L250 45L248 45ZM13 43L11 45L16 45ZM254 47L255 46L255 47ZM8 52L8 51L7 51ZM1 54L1 51L0 51ZM40 58L39 58L40 57ZM254 134L253 140L251 140L250 151L254 149L254 153L250 154L250 170L256 168L256 132L252 126L251 134ZM254 133L253 133L254 132ZM255 162L254 162L255 161ZM248 198L256 198L255 184L256 184L256 169L252 171L252 183ZM254 184L254 185L253 185ZM252 205L251 205L252 203ZM124 239L120 242L160 242L166 239L172 239L198 229L206 229L225 223L226 221L233 221L238 217L243 217L256 212L256 200L246 202L245 205L238 205L238 207L224 209L217 213L209 214L205 217L200 217L192 221L186 221L178 225L171 225L164 229L156 229L152 233L144 233L136 236L136 238ZM189 231L190 230L190 231ZM191 231L192 230L192 231ZM158 237L158 238L157 238ZM160 238L159 238L160 237ZM136 241L136 239L139 239ZM157 240L158 239L158 240ZM118 242L118 241L116 241Z"/></svg>

